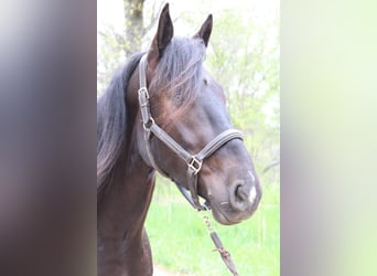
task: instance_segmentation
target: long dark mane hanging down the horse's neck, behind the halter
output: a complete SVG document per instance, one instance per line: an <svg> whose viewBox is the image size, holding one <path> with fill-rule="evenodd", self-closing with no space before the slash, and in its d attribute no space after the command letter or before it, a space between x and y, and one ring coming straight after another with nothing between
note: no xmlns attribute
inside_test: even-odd
<svg viewBox="0 0 377 276"><path fill-rule="evenodd" d="M120 153L126 146L126 89L143 53L132 55L114 75L104 95L97 102L97 195L111 178Z"/></svg>

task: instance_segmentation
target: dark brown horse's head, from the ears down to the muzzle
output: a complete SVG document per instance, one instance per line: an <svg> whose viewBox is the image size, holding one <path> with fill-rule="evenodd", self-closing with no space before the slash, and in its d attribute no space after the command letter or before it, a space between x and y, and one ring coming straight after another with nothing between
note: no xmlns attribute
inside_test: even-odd
<svg viewBox="0 0 377 276"><path fill-rule="evenodd" d="M144 59L146 71L140 71L141 78L146 74L148 87L147 102L140 105L148 105L149 115L143 110L139 114L144 123L139 132L149 132L147 149L141 138L139 150L146 163L191 190L192 195L196 192L204 198L219 223L235 224L256 211L261 187L240 135L231 130L225 93L203 66L212 26L213 18L208 15L192 38L174 36L169 6L163 8ZM159 130L151 132L152 124ZM164 139L172 139L173 146ZM207 145L215 148L203 153L201 160L196 153ZM174 147L179 150L174 151ZM196 157L198 160L190 161ZM195 188L187 177L190 162L197 181Z"/></svg>

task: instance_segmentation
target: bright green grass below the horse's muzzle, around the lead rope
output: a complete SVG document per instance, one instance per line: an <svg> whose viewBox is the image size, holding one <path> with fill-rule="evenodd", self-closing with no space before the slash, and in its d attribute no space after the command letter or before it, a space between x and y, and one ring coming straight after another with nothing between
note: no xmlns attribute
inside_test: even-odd
<svg viewBox="0 0 377 276"><path fill-rule="evenodd" d="M251 219L225 226L211 222L230 252L239 275L280 275L280 189L263 187L259 209ZM147 217L154 264L176 275L228 276L203 222L173 183L159 179Z"/></svg>

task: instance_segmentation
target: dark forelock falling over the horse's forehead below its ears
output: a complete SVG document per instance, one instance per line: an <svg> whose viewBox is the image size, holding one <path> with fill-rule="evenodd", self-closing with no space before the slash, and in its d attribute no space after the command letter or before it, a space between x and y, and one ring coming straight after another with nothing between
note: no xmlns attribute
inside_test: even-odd
<svg viewBox="0 0 377 276"><path fill-rule="evenodd" d="M162 127L184 114L196 98L203 83L204 59L205 45L198 39L174 36L164 49L150 83L150 91L164 93L175 106L169 113L159 110L160 116L155 119ZM151 102L160 96L159 93L152 94Z"/></svg>

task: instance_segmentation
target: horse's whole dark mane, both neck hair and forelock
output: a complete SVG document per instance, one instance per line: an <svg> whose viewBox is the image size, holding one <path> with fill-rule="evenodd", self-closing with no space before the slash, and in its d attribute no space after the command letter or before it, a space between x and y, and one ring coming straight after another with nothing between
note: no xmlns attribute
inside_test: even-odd
<svg viewBox="0 0 377 276"><path fill-rule="evenodd" d="M97 197L110 183L126 146L127 103L126 89L129 79L144 53L132 55L118 70L109 86L97 103ZM202 64L205 45L202 40L173 38L164 49L155 67L150 89L159 92L151 97L165 94L174 103L174 110L160 110L157 119L166 127L186 110L196 98L203 83ZM153 99L151 99L153 102Z"/></svg>

